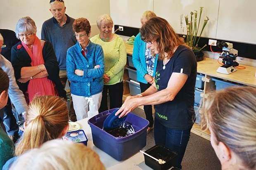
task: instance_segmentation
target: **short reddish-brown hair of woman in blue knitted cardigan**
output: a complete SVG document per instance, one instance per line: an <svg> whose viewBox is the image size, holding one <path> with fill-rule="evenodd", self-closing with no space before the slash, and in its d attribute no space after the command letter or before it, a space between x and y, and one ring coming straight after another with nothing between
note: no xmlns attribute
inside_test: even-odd
<svg viewBox="0 0 256 170"><path fill-rule="evenodd" d="M80 33L82 31L85 31L88 35L91 31L90 22L86 18L78 18L73 22L73 31L76 33Z"/></svg>

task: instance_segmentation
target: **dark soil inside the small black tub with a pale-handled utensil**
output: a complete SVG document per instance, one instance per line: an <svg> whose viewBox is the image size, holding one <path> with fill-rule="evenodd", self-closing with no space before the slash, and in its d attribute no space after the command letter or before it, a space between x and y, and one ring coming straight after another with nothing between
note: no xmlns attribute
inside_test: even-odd
<svg viewBox="0 0 256 170"><path fill-rule="evenodd" d="M147 153L157 159L162 159L166 162L176 156L174 152L169 151L168 149L161 146L157 146L156 148L152 149L151 151L148 151Z"/></svg>

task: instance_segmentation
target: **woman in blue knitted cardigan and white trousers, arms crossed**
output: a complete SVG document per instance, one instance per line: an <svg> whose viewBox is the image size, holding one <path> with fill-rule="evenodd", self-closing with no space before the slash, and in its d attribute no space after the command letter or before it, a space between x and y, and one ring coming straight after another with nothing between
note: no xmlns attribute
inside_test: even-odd
<svg viewBox="0 0 256 170"><path fill-rule="evenodd" d="M77 43L70 47L66 56L66 71L71 81L71 96L77 120L88 117L88 110L100 107L103 90L104 54L102 47L89 40L91 26L87 19L73 22ZM88 97L96 108L89 108Z"/></svg>

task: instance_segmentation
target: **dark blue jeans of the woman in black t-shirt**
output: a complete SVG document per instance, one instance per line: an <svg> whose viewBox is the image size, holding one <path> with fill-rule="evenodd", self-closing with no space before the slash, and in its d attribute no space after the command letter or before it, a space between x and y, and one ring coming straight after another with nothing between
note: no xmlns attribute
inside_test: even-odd
<svg viewBox="0 0 256 170"><path fill-rule="evenodd" d="M190 129L170 129L155 119L154 138L156 145L164 145L178 153L174 167L182 168L181 162L190 139Z"/></svg>

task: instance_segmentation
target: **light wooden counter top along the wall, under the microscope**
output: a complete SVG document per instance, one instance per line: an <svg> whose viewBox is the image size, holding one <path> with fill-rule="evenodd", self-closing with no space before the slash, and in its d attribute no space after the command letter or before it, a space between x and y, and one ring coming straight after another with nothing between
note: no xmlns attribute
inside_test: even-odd
<svg viewBox="0 0 256 170"><path fill-rule="evenodd" d="M132 55L133 45L126 44L126 52L127 54ZM219 66L221 65L218 64L218 61L216 59L206 57L203 61L197 62L197 72L217 78L222 78L232 82L256 87L256 77L254 76L256 67L240 65L245 66L246 68L244 70L238 69L231 74L221 74L217 73L216 71Z"/></svg>

